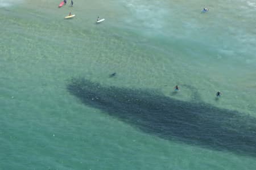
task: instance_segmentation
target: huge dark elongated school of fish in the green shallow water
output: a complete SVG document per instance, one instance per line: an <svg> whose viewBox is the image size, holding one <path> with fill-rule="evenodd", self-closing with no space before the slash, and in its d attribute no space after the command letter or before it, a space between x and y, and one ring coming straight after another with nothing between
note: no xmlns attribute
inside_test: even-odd
<svg viewBox="0 0 256 170"><path fill-rule="evenodd" d="M102 86L72 79L82 103L163 139L256 156L256 118L203 102L172 99L156 91Z"/></svg>

